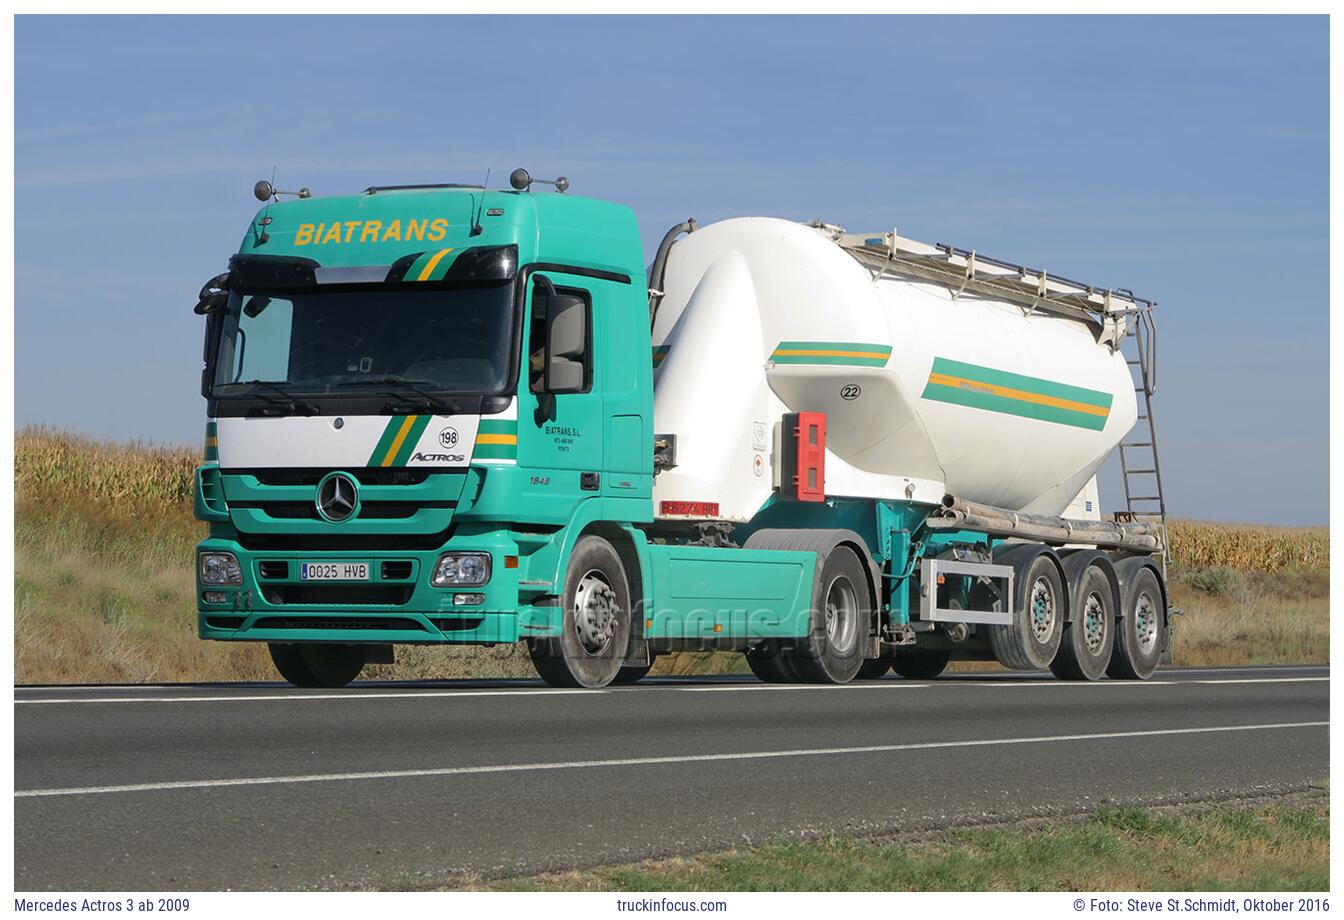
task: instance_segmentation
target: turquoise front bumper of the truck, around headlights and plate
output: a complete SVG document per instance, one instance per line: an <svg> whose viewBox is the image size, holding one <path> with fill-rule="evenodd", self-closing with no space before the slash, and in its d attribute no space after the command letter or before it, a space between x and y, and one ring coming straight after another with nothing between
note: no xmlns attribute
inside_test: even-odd
<svg viewBox="0 0 1344 920"><path fill-rule="evenodd" d="M435 588L429 583L444 552L488 552L491 579L481 587ZM235 587L196 583L198 629L203 639L242 642L356 642L492 645L559 635L560 610L550 595L523 591L519 556L508 532L454 536L437 549L270 551L246 549L210 537L198 552L231 552L242 567ZM302 563L366 561L368 582L301 582ZM208 603L207 592L224 595ZM480 595L480 603L454 603ZM474 598L473 598L474 600ZM540 603L538 603L540 602Z"/></svg>

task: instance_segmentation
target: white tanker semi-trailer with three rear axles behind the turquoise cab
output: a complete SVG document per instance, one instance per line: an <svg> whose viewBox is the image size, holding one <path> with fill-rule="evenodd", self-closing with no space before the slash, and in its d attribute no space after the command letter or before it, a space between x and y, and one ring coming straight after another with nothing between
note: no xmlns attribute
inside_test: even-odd
<svg viewBox="0 0 1344 920"><path fill-rule="evenodd" d="M1126 522L1101 520L1095 481L1137 419L1152 435L1149 302L895 232L683 230L652 281L660 521L716 508L746 547L801 548L875 516L891 592L867 677L950 658L1152 673L1169 647L1165 509L1141 504L1160 502L1152 438L1126 445ZM1145 474L1156 496L1130 489ZM805 654L747 659L765 680L827 670L796 668Z"/></svg>

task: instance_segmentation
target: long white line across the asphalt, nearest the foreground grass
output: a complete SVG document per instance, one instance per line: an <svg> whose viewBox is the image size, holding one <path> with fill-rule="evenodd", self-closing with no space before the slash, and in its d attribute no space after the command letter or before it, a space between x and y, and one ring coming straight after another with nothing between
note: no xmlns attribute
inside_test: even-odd
<svg viewBox="0 0 1344 920"><path fill-rule="evenodd" d="M613 760L562 760L556 763L507 763L485 767L437 767L430 770L376 770L358 774L301 774L294 776L241 776L234 779L185 779L167 783L132 783L126 786L82 786L71 788L16 790L15 798L58 795L103 795L109 792L155 792L179 788L223 788L230 786L286 786L292 783L339 783L356 779L406 779L421 776L466 776L477 774L521 774L543 770L593 770L595 767L646 767L667 763L706 763L716 760L767 760L774 757L817 757L845 753L887 753L894 751L929 751L937 748L976 748L1007 744L1048 744L1056 741L1097 741L1160 735L1210 735L1218 732L1263 732L1290 728L1320 728L1328 721L1266 723L1259 725L1211 725L1207 728L1157 728L1140 732L1093 732L1087 735L1042 735L1035 737L991 737L973 741L923 741L913 744L870 744L851 748L798 748L793 751L746 751L742 753L688 753L668 757L618 757Z"/></svg>

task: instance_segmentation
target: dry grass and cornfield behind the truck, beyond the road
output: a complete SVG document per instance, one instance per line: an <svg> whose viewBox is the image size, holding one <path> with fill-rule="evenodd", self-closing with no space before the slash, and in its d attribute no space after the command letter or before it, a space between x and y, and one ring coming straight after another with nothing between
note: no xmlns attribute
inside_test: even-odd
<svg viewBox="0 0 1344 920"><path fill-rule="evenodd" d="M17 682L276 680L259 645L196 638L192 549L204 525L191 512L195 450L46 428L20 431L15 447ZM1173 596L1185 611L1177 663L1328 659L1324 529L1177 521L1172 547ZM1247 571L1257 561L1261 571ZM669 655L655 666L655 674L743 670L742 657L726 653ZM395 666L366 676L531 677L532 668L520 646L402 647Z"/></svg>

